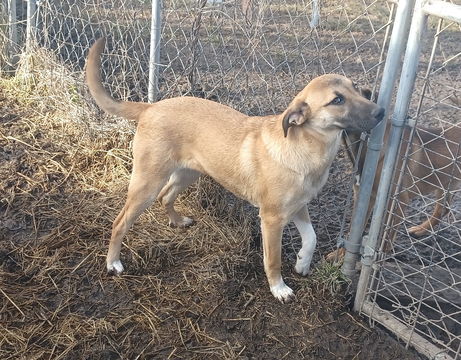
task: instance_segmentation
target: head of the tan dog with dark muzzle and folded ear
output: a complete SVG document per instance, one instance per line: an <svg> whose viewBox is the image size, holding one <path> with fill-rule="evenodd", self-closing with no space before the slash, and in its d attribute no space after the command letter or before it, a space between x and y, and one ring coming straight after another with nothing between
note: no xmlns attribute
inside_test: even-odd
<svg viewBox="0 0 461 360"><path fill-rule="evenodd" d="M357 84L347 77L328 74L313 79L283 115L285 137L291 126L367 131L384 118L384 107L362 96Z"/></svg>

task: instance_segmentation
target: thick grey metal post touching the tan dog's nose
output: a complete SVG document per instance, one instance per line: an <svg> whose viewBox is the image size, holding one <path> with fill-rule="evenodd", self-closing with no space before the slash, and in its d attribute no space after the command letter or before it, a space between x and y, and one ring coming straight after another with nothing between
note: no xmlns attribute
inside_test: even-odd
<svg viewBox="0 0 461 360"><path fill-rule="evenodd" d="M355 264L359 253L362 232L366 222L366 212L373 187L379 154L383 148L384 131L389 116L390 103L396 87L398 69L402 59L405 34L408 28L410 13L414 0L399 0L392 35L390 36L389 50L384 65L383 79L379 91L378 104L386 109L384 120L376 126L367 143L366 159L363 167L362 180L351 220L348 239L345 241L346 254L344 255L341 272L351 277L355 274Z"/></svg>

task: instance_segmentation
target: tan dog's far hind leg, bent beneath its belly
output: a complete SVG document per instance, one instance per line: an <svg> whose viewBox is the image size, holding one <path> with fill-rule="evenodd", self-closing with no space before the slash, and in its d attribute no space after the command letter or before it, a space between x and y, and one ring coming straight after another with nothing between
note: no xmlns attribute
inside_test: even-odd
<svg viewBox="0 0 461 360"><path fill-rule="evenodd" d="M178 169L173 172L170 180L168 180L168 183L163 187L162 191L160 191L159 196L157 196L163 211L165 211L168 218L170 218L170 226L186 228L194 224L192 218L179 215L173 205L177 196L195 183L200 177L200 174L199 171L187 168Z"/></svg>

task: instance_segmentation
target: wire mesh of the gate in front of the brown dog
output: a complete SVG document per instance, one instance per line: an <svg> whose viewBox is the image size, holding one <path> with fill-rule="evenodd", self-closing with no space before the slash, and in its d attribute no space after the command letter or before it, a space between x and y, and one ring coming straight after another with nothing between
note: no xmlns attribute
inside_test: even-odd
<svg viewBox="0 0 461 360"><path fill-rule="evenodd" d="M375 263L366 296L454 359L461 351L460 43L460 24L429 17L409 108L417 128L402 136L382 225L384 263Z"/></svg>

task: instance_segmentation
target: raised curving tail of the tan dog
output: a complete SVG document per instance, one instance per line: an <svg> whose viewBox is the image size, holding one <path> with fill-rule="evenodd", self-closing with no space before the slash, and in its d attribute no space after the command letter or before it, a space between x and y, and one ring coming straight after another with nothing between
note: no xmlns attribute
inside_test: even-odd
<svg viewBox="0 0 461 360"><path fill-rule="evenodd" d="M142 113L150 106L147 103L120 101L109 94L101 80L101 53L106 46L106 38L100 37L91 47L86 64L86 77L89 93L96 104L105 112L123 118L139 120Z"/></svg>

